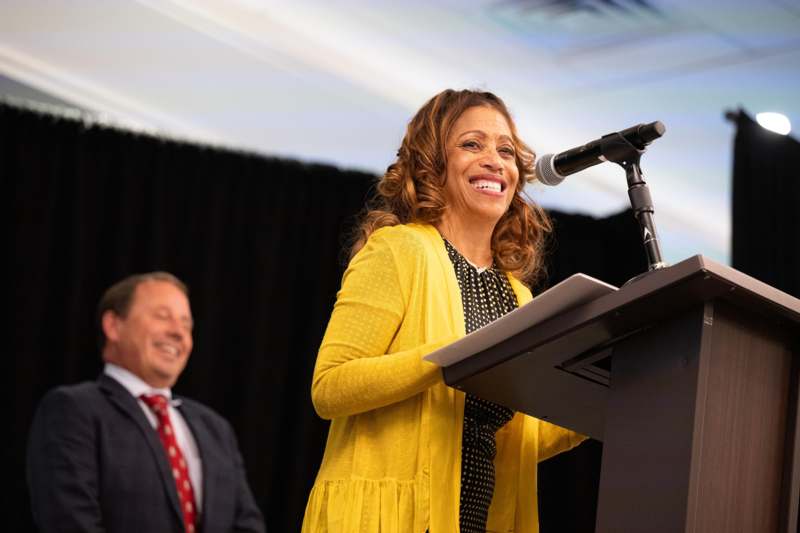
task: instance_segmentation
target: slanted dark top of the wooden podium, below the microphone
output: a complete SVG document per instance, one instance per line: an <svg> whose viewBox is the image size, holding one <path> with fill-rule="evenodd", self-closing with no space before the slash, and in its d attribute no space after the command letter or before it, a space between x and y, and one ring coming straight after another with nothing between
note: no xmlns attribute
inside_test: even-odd
<svg viewBox="0 0 800 533"><path fill-rule="evenodd" d="M444 380L464 392L602 438L603 417L598 413L605 409L611 374L602 361L613 346L706 302L760 315L800 338L800 299L696 255L465 354L443 367Z"/></svg>

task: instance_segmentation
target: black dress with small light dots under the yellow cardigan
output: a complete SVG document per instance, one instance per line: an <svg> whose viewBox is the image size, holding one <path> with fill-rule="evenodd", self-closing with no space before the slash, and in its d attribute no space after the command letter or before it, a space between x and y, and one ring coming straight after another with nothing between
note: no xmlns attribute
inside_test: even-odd
<svg viewBox="0 0 800 533"><path fill-rule="evenodd" d="M464 304L467 333L517 308L517 298L506 275L498 268L478 269L445 240ZM494 494L495 433L514 411L467 394L461 445L461 533L485 533Z"/></svg>

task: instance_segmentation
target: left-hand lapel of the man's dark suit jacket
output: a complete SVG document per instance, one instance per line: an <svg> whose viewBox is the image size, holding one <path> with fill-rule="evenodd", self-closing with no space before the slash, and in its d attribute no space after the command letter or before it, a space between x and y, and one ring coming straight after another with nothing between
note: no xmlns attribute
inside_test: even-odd
<svg viewBox="0 0 800 533"><path fill-rule="evenodd" d="M153 458L158 464L158 470L161 473L161 481L164 483L164 488L175 515L178 517L181 524L183 524L183 514L181 513L180 503L178 502L178 493L175 488L175 478L172 476L172 468L167 460L167 455L164 452L164 446L158 440L158 434L150 425L150 421L142 412L139 402L134 398L128 390L117 382L114 378L101 374L97 380L100 389L106 394L109 401L114 404L120 411L128 416L138 426L139 430L147 442L150 451L153 452Z"/></svg>

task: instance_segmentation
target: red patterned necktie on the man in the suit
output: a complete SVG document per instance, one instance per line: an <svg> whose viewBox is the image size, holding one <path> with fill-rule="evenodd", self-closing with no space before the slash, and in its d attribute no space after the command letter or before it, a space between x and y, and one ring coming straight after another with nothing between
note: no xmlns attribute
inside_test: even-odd
<svg viewBox="0 0 800 533"><path fill-rule="evenodd" d="M167 398L161 394L142 394L140 398L158 418L158 437L161 439L161 444L164 445L164 451L167 452L167 459L172 467L172 476L175 478L175 488L178 489L178 500L180 500L183 513L183 525L186 533L194 533L197 520L194 490L192 490L192 481L189 479L186 460L183 458L178 441L175 440L175 430L169 420Z"/></svg>

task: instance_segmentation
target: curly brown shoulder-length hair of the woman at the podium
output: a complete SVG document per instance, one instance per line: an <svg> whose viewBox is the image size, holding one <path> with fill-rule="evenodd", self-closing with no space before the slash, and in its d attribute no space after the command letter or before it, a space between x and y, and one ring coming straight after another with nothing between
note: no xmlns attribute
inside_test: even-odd
<svg viewBox="0 0 800 533"><path fill-rule="evenodd" d="M492 255L503 270L531 284L543 273L542 248L552 231L547 213L524 193L525 183L536 178L536 155L517 133L505 103L496 95L476 90L447 89L422 106L408 124L406 135L378 180L373 198L353 236L352 258L373 231L409 222L438 223L447 204L446 142L458 118L471 107L487 106L508 121L519 170L517 191L492 234Z"/></svg>

